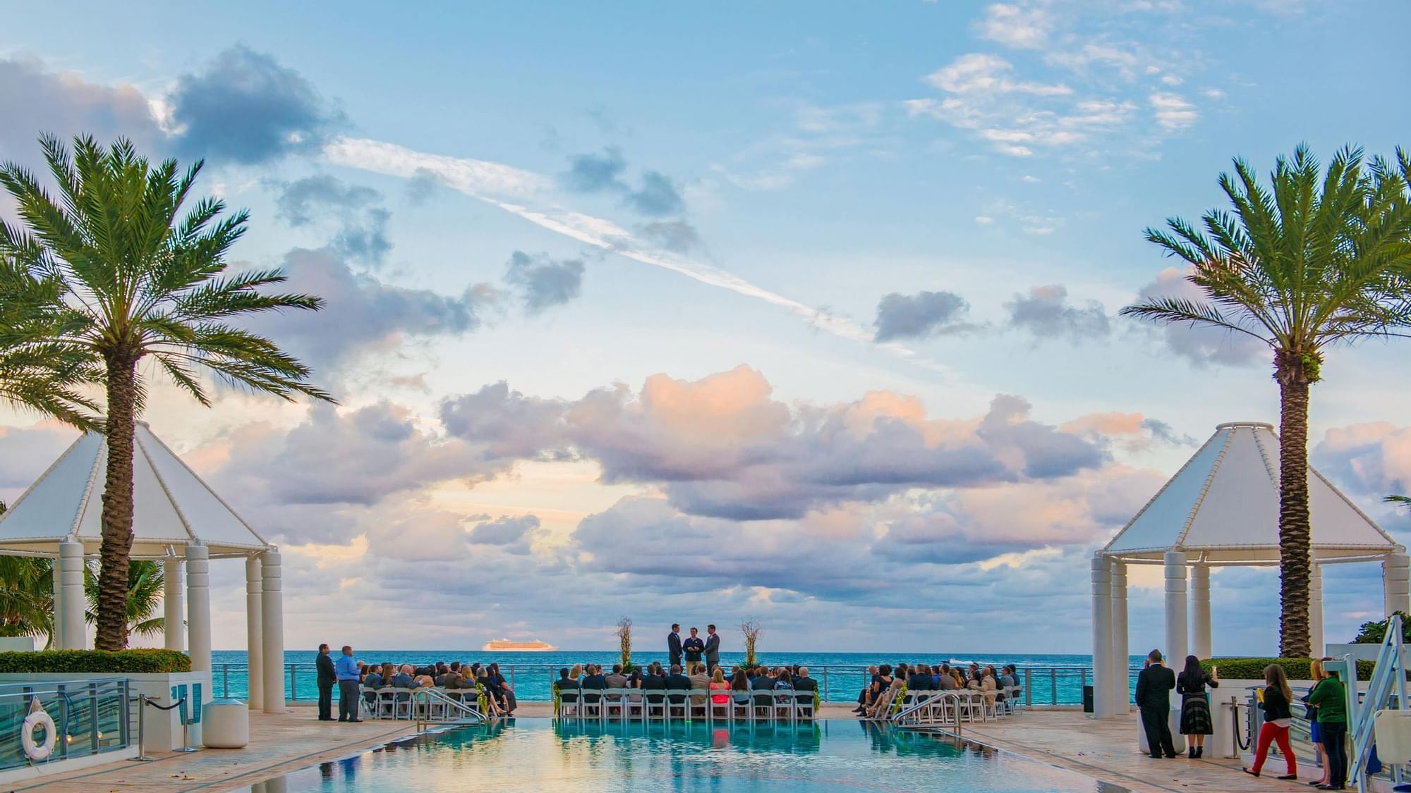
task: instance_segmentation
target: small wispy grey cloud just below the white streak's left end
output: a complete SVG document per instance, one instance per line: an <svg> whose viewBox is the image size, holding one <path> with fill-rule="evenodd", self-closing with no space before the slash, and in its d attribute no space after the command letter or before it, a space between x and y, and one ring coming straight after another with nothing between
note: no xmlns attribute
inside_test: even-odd
<svg viewBox="0 0 1411 793"><path fill-rule="evenodd" d="M387 260L392 250L387 237L392 213L381 206L382 193L329 175L272 182L272 186L279 189L275 206L291 226L337 220L339 230L330 243L334 251L374 267Z"/></svg>

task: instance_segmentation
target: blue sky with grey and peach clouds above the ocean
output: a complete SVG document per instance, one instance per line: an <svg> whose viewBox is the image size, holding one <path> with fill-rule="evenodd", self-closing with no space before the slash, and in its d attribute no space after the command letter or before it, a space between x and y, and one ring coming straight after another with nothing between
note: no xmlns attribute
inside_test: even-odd
<svg viewBox="0 0 1411 793"><path fill-rule="evenodd" d="M75 13L8 10L0 159L203 158L251 212L234 267L327 301L250 327L336 406L143 370L154 432L284 552L291 648L607 649L626 615L1088 652L1092 552L1216 423L1278 415L1257 343L1118 316L1185 288L1143 229L1221 207L1235 157L1411 144L1411 52L1369 37L1393 1ZM1309 419L1403 543L1404 360L1333 350ZM0 412L0 498L73 437ZM243 566L213 567L243 648ZM1277 576L1212 580L1215 652L1273 655ZM1325 587L1329 641L1380 615L1376 566Z"/></svg>

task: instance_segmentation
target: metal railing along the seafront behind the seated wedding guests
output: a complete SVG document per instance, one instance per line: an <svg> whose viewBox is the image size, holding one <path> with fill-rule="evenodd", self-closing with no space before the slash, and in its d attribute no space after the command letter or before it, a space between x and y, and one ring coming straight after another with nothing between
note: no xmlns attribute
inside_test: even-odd
<svg viewBox="0 0 1411 793"><path fill-rule="evenodd" d="M286 663L285 698L291 701L316 701L319 698L317 670L313 663ZM499 670L515 687L515 694L526 701L547 701L550 689L559 679L557 663L501 663ZM818 680L818 690L825 703L855 701L858 693L871 683L871 673L864 665L814 665L809 674ZM1140 666L1130 670L1130 686L1134 690ZM212 686L222 697L248 697L250 669L244 663L212 665ZM1023 689L1026 706L1081 706L1084 686L1092 683L1092 669L1085 666L1026 666L1019 669L1019 684ZM336 691L334 691L334 696Z"/></svg>

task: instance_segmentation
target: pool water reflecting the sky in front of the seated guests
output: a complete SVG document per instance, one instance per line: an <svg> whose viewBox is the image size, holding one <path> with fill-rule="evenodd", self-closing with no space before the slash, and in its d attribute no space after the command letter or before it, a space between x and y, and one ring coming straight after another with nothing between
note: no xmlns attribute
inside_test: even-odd
<svg viewBox="0 0 1411 793"><path fill-rule="evenodd" d="M522 718L394 742L261 782L251 793L593 790L1119 793L950 737L861 721L574 724Z"/></svg>

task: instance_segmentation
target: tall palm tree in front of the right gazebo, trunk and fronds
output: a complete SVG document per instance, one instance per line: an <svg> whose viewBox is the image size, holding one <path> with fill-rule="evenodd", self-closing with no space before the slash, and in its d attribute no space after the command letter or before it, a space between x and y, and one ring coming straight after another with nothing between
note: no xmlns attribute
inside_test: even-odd
<svg viewBox="0 0 1411 793"><path fill-rule="evenodd" d="M1411 323L1411 159L1363 165L1360 148L1326 175L1300 145L1264 188L1243 159L1219 183L1233 213L1206 212L1204 231L1181 219L1146 238L1191 265L1204 301L1151 298L1123 315L1243 333L1273 354L1280 395L1280 655L1308 658L1308 387L1324 353L1364 337L1403 336Z"/></svg>

